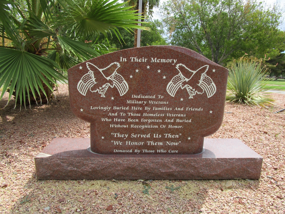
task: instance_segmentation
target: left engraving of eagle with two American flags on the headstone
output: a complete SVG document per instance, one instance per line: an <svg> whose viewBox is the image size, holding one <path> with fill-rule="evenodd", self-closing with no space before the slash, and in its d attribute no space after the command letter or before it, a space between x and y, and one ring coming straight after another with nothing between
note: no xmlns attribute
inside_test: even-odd
<svg viewBox="0 0 285 214"><path fill-rule="evenodd" d="M105 97L105 93L109 86L114 86L119 91L120 96L123 96L129 90L129 85L121 76L117 73L117 69L120 67L118 62L113 62L106 68L100 69L94 64L87 62L86 66L89 70L87 74L82 76L81 80L77 84L77 89L80 94L86 96L88 89L91 92L98 92L101 97ZM97 86L95 84L98 84ZM94 87L94 90L91 88Z"/></svg>

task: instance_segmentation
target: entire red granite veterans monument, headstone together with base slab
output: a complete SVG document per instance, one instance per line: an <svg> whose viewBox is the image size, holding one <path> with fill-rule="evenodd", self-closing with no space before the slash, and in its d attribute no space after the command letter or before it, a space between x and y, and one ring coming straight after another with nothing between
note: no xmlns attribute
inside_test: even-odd
<svg viewBox="0 0 285 214"><path fill-rule="evenodd" d="M228 70L182 47L105 54L68 70L72 112L90 139L61 138L35 158L39 179L259 178L262 157L222 124Z"/></svg>

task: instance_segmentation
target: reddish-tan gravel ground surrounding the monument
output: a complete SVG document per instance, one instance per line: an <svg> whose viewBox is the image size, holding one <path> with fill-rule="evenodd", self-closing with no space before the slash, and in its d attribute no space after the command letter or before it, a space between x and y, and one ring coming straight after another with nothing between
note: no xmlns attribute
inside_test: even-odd
<svg viewBox="0 0 285 214"><path fill-rule="evenodd" d="M4 108L6 93L0 101L0 213L284 214L285 111L273 112L285 108L285 95L272 95L274 108L227 103L225 112L231 113L208 137L239 138L260 154L258 180L65 181L37 180L34 157L54 137L90 136L89 124L70 110L67 86L51 104L21 112L13 101ZM178 188L172 192L166 186Z"/></svg>

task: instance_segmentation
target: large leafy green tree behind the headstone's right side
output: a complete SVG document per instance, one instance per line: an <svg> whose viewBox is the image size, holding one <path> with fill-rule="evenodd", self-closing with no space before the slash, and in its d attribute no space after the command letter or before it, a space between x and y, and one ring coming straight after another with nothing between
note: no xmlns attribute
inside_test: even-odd
<svg viewBox="0 0 285 214"><path fill-rule="evenodd" d="M171 44L218 64L284 47L284 33L278 30L281 15L278 5L265 8L251 0L170 0L163 5Z"/></svg>

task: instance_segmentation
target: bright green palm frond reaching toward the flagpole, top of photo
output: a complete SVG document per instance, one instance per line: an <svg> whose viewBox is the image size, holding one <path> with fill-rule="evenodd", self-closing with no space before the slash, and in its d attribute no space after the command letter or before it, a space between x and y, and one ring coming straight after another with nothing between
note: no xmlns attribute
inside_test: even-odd
<svg viewBox="0 0 285 214"><path fill-rule="evenodd" d="M104 35L111 31L115 33L116 27L147 29L134 25L141 23L136 20L143 16L138 16L134 13L135 10L129 10L132 7L122 7L125 3L116 4L117 1L92 0L72 5L70 7L72 16L66 14L66 23L74 24L75 33L82 34L84 37L95 33Z"/></svg>

